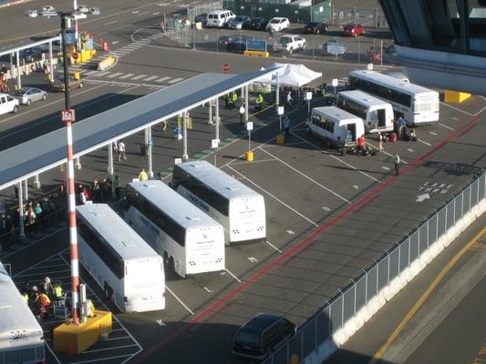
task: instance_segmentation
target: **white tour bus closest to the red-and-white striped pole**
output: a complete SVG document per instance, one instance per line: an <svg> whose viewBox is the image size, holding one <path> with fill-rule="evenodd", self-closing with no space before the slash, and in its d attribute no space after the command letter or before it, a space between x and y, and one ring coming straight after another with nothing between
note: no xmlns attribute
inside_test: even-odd
<svg viewBox="0 0 486 364"><path fill-rule="evenodd" d="M123 312L165 308L162 258L108 205L76 207L79 261Z"/></svg>

